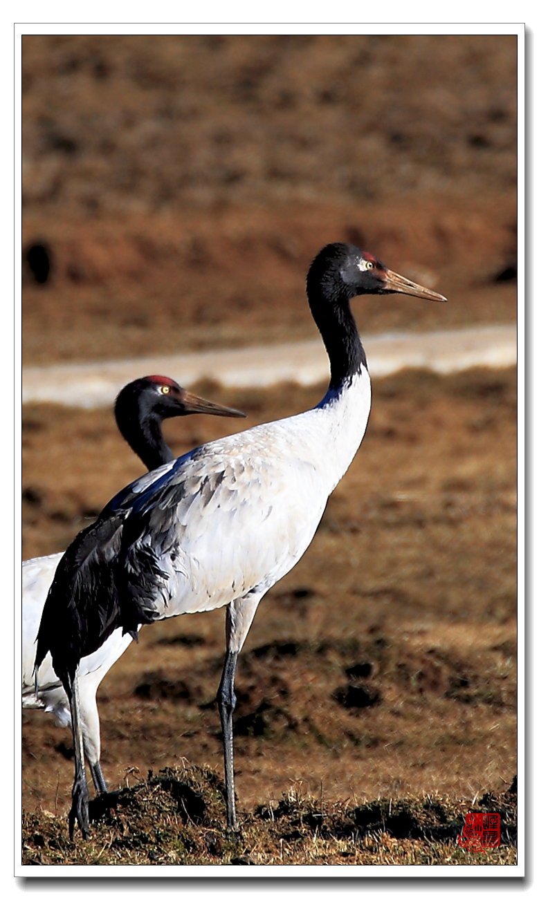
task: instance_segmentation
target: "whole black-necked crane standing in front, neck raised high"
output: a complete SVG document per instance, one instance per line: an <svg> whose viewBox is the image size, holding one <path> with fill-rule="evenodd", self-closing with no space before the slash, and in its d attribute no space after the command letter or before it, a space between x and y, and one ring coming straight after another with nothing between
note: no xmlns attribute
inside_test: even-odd
<svg viewBox="0 0 539 900"><path fill-rule="evenodd" d="M223 437L142 476L69 546L41 619L36 664L50 652L69 696L76 749L69 826L89 833L77 667L121 628L226 607L218 706L227 823L235 828L234 676L260 599L305 553L370 413L370 377L350 302L405 293L444 301L351 244L329 244L309 268L309 306L331 379L313 410ZM61 626L60 626L61 623Z"/></svg>

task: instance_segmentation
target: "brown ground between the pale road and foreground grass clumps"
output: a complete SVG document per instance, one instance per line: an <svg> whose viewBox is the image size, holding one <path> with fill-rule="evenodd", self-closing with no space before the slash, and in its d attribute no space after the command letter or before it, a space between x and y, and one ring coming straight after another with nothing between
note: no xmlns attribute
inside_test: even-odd
<svg viewBox="0 0 539 900"><path fill-rule="evenodd" d="M249 423L322 389L199 390ZM167 423L175 452L232 432ZM62 549L141 464L109 410L24 410L24 555ZM61 474L60 474L61 473ZM377 797L500 793L516 771L516 372L374 383L361 449L305 557L263 600L240 658L240 809L293 788ZM111 788L186 758L220 770L223 611L142 629L99 690ZM23 725L23 806L64 816L68 732ZM65 822L65 820L64 820Z"/></svg>

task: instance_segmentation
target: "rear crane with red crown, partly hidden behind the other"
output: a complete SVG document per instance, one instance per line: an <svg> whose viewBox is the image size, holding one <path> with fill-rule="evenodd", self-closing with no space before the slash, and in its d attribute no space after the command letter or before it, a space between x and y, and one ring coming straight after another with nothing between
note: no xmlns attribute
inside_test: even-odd
<svg viewBox="0 0 539 900"><path fill-rule="evenodd" d="M123 387L114 404L121 434L152 470L174 459L163 437L163 419L210 413L213 416L242 417L238 410L207 401L181 388L165 375L147 375ZM70 725L69 700L52 668L50 653L41 662L36 679L33 672L35 641L41 614L54 573L63 554L40 556L23 562L23 707L43 709L56 717L59 725ZM101 770L101 738L96 691L107 671L131 644L132 635L117 628L94 653L78 665L80 726L84 752L96 790L106 791Z"/></svg>

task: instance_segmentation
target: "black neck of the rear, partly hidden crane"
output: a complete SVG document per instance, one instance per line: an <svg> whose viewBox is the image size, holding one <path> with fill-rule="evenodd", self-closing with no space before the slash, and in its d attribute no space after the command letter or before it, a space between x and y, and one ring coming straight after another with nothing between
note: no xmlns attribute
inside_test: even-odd
<svg viewBox="0 0 539 900"><path fill-rule="evenodd" d="M143 396L120 395L114 410L120 432L151 472L174 459L163 437L162 418L146 408Z"/></svg>

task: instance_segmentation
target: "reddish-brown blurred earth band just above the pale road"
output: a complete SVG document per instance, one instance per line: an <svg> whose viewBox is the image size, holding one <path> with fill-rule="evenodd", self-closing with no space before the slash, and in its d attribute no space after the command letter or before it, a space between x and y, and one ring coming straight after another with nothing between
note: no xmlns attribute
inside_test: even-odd
<svg viewBox="0 0 539 900"><path fill-rule="evenodd" d="M512 322L515 280L498 278L516 247L515 220L509 195L465 209L429 197L411 211L393 198L350 208L274 204L211 216L50 222L54 281L24 287L23 364L315 338L306 271L333 240L368 247L451 299L441 309L404 295L363 298L365 333ZM42 229L41 218L28 216L27 243Z"/></svg>

